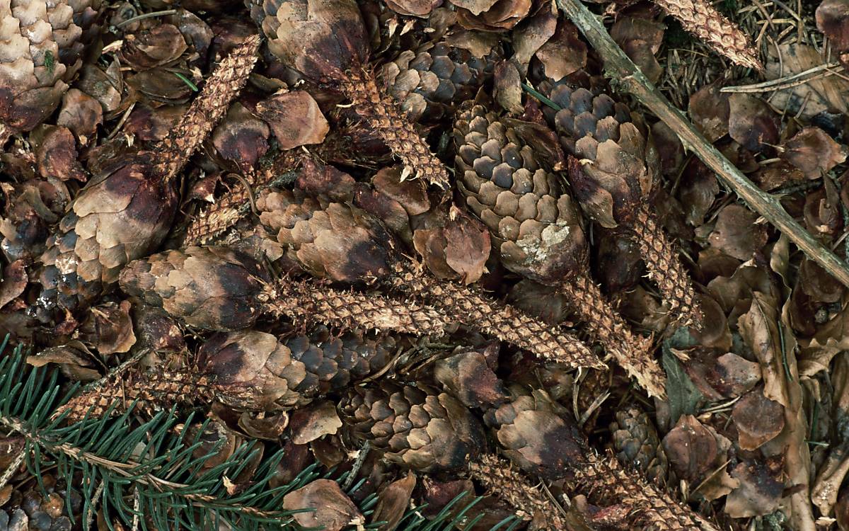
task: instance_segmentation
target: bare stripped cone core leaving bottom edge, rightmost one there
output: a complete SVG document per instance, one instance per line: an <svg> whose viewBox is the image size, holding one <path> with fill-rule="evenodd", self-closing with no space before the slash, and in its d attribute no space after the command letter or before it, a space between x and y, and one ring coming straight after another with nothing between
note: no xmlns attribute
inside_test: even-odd
<svg viewBox="0 0 849 531"><path fill-rule="evenodd" d="M578 486L591 493L591 500L626 507L628 514L633 515L632 526L663 531L719 531L688 506L622 468L614 457L604 458L589 451L586 460L572 474Z"/></svg>

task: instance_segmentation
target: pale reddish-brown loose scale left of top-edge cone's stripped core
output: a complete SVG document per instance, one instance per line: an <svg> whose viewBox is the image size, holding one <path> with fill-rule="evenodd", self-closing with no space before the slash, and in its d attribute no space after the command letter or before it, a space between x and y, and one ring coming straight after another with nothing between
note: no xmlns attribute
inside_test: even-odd
<svg viewBox="0 0 849 531"><path fill-rule="evenodd" d="M256 114L271 126L282 150L321 144L330 130L316 100L302 90L262 100L256 104Z"/></svg>

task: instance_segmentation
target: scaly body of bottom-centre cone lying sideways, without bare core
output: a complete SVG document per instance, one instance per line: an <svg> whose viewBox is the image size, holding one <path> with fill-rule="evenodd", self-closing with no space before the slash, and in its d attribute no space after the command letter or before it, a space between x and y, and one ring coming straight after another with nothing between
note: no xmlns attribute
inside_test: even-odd
<svg viewBox="0 0 849 531"><path fill-rule="evenodd" d="M457 470L485 447L483 427L457 398L425 386L353 387L339 406L351 434L417 472Z"/></svg>

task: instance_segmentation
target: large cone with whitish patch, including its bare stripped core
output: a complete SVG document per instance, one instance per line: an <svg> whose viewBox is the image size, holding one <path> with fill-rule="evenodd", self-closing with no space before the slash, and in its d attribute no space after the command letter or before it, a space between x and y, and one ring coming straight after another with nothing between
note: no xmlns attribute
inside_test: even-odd
<svg viewBox="0 0 849 531"><path fill-rule="evenodd" d="M589 277L582 220L563 184L541 167L519 131L532 124L507 121L481 105L464 111L454 127L458 188L486 224L504 267L542 284L559 285L594 339L650 394L663 395L665 376Z"/></svg>

